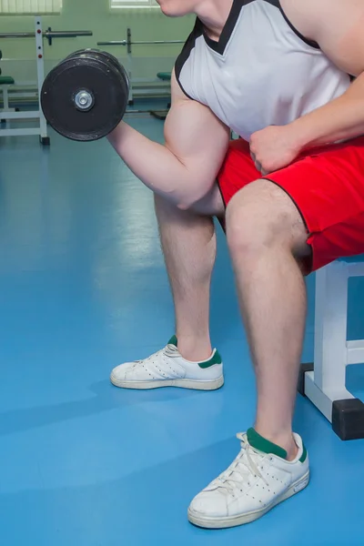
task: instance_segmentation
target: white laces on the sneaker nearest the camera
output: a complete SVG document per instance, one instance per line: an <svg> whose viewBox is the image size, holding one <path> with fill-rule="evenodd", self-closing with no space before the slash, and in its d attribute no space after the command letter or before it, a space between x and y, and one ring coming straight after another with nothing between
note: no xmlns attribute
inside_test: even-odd
<svg viewBox="0 0 364 546"><path fill-rule="evenodd" d="M241 451L236 460L217 478L218 487L234 493L237 489L241 490L242 483L247 479L249 485L251 476L254 478L258 476L268 486L268 481L261 474L255 461L258 457L257 451L248 444L245 434L239 433L237 438L241 441Z"/></svg>

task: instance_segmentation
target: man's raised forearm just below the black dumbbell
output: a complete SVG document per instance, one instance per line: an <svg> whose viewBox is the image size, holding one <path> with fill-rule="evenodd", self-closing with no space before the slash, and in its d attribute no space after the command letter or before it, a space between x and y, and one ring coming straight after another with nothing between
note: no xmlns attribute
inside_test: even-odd
<svg viewBox="0 0 364 546"><path fill-rule="evenodd" d="M158 195L181 207L200 198L197 180L167 147L124 122L108 140L136 177Z"/></svg>

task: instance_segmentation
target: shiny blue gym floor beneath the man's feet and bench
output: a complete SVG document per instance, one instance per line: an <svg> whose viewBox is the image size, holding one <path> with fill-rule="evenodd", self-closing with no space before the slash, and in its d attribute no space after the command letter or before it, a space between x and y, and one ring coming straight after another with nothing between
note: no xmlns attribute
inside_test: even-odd
<svg viewBox="0 0 364 546"><path fill-rule="evenodd" d="M162 141L161 121L128 121ZM300 397L295 429L310 454L308 489L245 527L187 522L189 501L226 469L235 434L254 419L225 238L218 231L211 311L224 388L114 388L114 366L174 333L152 195L106 140L50 136L49 149L36 136L0 139L0 544L362 546L364 441L339 440ZM306 361L313 289L311 277ZM350 336L364 336L363 282L350 291ZM363 395L361 367L348 381Z"/></svg>

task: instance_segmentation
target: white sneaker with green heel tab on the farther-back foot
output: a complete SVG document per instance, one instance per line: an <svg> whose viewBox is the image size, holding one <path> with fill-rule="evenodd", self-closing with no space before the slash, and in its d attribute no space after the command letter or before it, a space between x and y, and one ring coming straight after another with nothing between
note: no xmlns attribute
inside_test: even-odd
<svg viewBox="0 0 364 546"><path fill-rule="evenodd" d="M224 384L223 364L217 349L204 362L189 362L180 355L176 336L164 349L147 359L117 366L110 379L113 385L123 389L182 387L214 390Z"/></svg>

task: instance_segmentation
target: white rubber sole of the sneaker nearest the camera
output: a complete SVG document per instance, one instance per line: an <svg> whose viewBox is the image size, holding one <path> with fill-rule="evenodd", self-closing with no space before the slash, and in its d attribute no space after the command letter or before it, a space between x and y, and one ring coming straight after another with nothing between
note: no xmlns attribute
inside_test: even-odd
<svg viewBox="0 0 364 546"><path fill-rule="evenodd" d="M297 495L297 493L307 488L308 483L309 470L302 478L299 478L299 480L295 481L295 483L293 483L286 492L282 493L282 495L280 495L280 497L276 501L272 502L262 510L251 511L241 516L232 516L225 518L206 518L204 516L200 516L198 512L188 509L188 521L190 521L190 523L193 523L193 525L196 525L197 527L202 527L204 529L227 529L229 527L238 527L239 525L245 525L246 523L251 523L252 521L258 520L268 511L271 511L275 506L280 504L280 502L287 501L290 497L293 497L293 495Z"/></svg>

